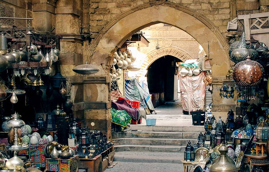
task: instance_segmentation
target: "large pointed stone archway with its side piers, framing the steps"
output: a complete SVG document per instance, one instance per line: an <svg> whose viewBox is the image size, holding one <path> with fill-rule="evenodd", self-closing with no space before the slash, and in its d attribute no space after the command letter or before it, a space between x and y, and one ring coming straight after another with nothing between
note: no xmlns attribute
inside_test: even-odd
<svg viewBox="0 0 269 172"><path fill-rule="evenodd" d="M145 17L146 16L146 17ZM219 88L230 68L228 43L219 30L206 17L187 7L165 0L150 0L138 7L115 17L95 37L86 49L84 57L89 63L96 63L100 71L84 76L84 122L96 122L96 129L111 132L110 116L110 77L109 70L113 62L112 54L132 34L153 24L165 23L190 34L205 50L210 58L213 80L213 105L215 116L235 111L235 102L221 99ZM208 52L208 44L210 52ZM220 70L221 69L221 70Z"/></svg>

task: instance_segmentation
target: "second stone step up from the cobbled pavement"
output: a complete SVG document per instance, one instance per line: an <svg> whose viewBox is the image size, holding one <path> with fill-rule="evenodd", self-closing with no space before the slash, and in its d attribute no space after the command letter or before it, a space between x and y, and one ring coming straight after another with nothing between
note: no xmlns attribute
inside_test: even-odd
<svg viewBox="0 0 269 172"><path fill-rule="evenodd" d="M184 153L186 145L171 146L171 145L134 145L134 144L122 144L114 145L115 151L138 151L138 152L180 152ZM131 154L131 153L130 153Z"/></svg>

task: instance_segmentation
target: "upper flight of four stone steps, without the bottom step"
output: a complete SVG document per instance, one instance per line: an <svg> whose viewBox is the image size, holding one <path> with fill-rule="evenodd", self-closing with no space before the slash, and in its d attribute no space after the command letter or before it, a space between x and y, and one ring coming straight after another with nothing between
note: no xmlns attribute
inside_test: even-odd
<svg viewBox="0 0 269 172"><path fill-rule="evenodd" d="M120 151L151 151L151 152L177 152L183 153L189 140L192 144L197 142L203 126L146 126L131 125L127 131L113 133L114 148Z"/></svg>

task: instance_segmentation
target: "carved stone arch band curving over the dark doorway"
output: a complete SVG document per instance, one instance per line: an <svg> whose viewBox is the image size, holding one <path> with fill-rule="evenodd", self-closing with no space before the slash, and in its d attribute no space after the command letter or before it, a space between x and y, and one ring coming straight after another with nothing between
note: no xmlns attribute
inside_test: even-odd
<svg viewBox="0 0 269 172"><path fill-rule="evenodd" d="M187 59L193 59L190 54L188 54L183 50L178 49L178 47L166 47L161 48L159 50L153 50L152 52L149 52L147 54L147 58L143 61L143 64L141 65L141 69L139 70L138 75L139 76L145 75L145 73L147 73L149 66L155 60L167 55L174 56L182 61L185 61Z"/></svg>

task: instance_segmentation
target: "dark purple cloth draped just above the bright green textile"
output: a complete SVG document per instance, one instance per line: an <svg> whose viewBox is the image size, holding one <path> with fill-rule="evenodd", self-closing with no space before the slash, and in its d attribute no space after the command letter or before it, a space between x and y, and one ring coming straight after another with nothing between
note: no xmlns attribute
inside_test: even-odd
<svg viewBox="0 0 269 172"><path fill-rule="evenodd" d="M125 110L127 114L134 120L138 120L138 109L132 107L125 99L111 101L111 107L116 110Z"/></svg>

